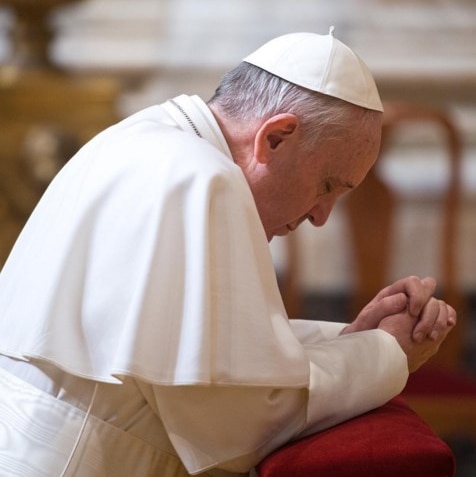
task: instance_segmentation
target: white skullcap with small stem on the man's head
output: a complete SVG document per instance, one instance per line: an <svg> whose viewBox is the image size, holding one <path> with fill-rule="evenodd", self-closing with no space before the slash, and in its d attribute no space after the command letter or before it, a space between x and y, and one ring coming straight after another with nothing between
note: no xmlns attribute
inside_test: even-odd
<svg viewBox="0 0 476 477"><path fill-rule="evenodd" d="M243 61L290 83L383 111L366 64L346 45L328 35L290 33L265 43Z"/></svg>

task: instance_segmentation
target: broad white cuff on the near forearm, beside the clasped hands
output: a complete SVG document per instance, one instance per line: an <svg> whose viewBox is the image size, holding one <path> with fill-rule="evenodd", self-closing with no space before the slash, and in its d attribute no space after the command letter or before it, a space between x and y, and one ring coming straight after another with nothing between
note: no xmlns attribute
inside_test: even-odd
<svg viewBox="0 0 476 477"><path fill-rule="evenodd" d="M386 403L408 378L407 357L383 330L349 333L305 344L311 366L307 425L317 432Z"/></svg>

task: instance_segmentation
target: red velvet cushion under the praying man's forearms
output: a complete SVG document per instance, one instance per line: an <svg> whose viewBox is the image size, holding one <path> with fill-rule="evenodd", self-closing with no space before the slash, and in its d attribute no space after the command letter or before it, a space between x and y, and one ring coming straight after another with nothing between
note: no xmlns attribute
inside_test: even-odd
<svg viewBox="0 0 476 477"><path fill-rule="evenodd" d="M260 477L451 477L449 447L403 401L288 444L257 467Z"/></svg>

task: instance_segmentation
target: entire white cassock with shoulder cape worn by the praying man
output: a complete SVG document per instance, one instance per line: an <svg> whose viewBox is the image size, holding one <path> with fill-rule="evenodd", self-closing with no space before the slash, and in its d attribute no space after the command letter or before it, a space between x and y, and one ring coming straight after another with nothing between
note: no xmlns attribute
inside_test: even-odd
<svg viewBox="0 0 476 477"><path fill-rule="evenodd" d="M0 475L247 473L402 390L396 340L343 326L288 321L206 104L147 108L69 161L2 271Z"/></svg>

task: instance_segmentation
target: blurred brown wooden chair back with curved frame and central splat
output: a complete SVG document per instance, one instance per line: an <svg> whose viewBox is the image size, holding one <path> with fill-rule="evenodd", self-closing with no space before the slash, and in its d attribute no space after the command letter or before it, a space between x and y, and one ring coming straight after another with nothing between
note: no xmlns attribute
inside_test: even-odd
<svg viewBox="0 0 476 477"><path fill-rule="evenodd" d="M456 261L461 199L460 134L444 111L409 103L391 103L385 107L382 146L378 160L385 160L386 152L391 147L392 136L398 132L401 124L419 123L428 123L437 129L443 139L449 163L449 177L441 205L439 293L457 310L458 326L433 360L448 367L457 367L461 362L465 315L458 286ZM388 283L397 209L398 198L395 192L379 177L375 168L344 203L355 257L356 287L352 306L354 312L360 310L375 296L376 291Z"/></svg>

